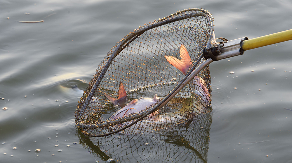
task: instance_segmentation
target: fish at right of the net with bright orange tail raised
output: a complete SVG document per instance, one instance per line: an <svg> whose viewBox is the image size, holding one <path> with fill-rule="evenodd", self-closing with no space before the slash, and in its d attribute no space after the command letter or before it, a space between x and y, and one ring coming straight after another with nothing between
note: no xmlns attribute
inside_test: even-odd
<svg viewBox="0 0 292 163"><path fill-rule="evenodd" d="M165 55L165 58L171 65L173 65L175 68L180 70L184 75L187 75L190 65L192 65L191 57L183 44L180 46L179 53L180 53L180 59L175 58L174 56L166 56L166 55ZM191 96L192 97L199 96L200 98L199 100L200 102L197 102L197 106L199 107L196 107L196 109L201 110L201 107L205 107L205 108L208 107L210 105L211 99L209 96L209 90L207 88L205 80L196 75L192 79L191 82L194 89L194 92L192 92ZM192 103L194 102L194 98L187 101L190 101Z"/></svg>

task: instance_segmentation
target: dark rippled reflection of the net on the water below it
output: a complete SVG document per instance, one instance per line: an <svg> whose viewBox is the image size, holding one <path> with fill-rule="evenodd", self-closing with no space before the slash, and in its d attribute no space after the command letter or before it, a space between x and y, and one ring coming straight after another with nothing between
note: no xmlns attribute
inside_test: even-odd
<svg viewBox="0 0 292 163"><path fill-rule="evenodd" d="M107 162L207 162L211 112L200 114L187 126L143 134L77 137L88 151Z"/></svg>

